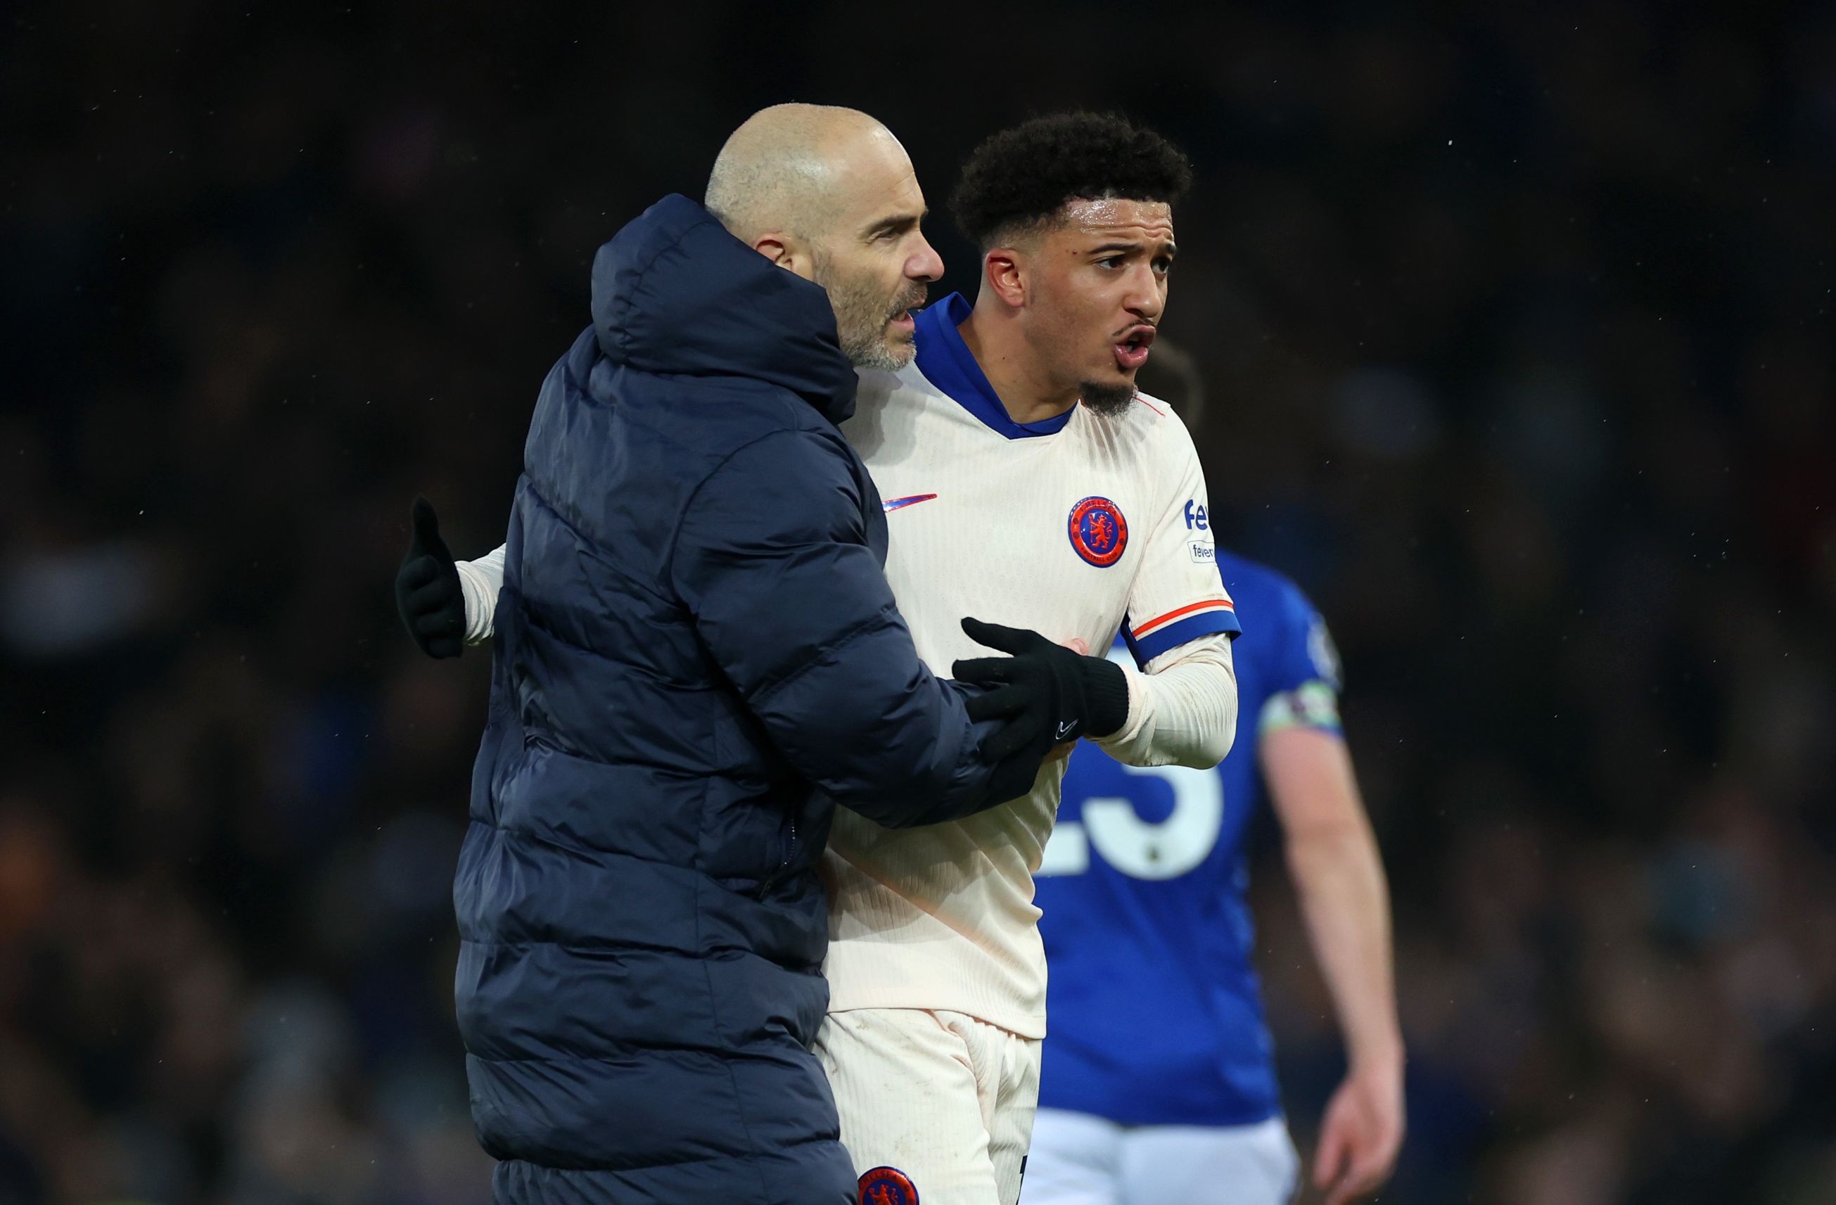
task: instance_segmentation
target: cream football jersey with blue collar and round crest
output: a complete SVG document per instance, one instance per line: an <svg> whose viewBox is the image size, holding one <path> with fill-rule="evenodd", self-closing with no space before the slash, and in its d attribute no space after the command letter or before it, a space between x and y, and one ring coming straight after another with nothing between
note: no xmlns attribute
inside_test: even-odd
<svg viewBox="0 0 1836 1205"><path fill-rule="evenodd" d="M960 296L920 312L916 362L863 373L843 424L879 487L887 580L925 665L949 678L958 658L1006 656L971 641L964 615L1096 654L1120 628L1142 667L1236 632L1204 474L1171 408L1144 395L1114 415L1017 424L957 332L968 312ZM837 808L823 856L832 1012L944 1008L1045 1036L1032 874L1063 766L944 825L894 830Z"/></svg>

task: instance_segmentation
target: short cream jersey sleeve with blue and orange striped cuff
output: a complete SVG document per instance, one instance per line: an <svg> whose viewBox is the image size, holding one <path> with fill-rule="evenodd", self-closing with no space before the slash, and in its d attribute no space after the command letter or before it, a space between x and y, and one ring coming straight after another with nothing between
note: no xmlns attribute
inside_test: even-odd
<svg viewBox="0 0 1836 1205"><path fill-rule="evenodd" d="M1236 604L1217 575L1204 470L1181 428L1184 463L1142 549L1122 634L1142 669L1164 652L1214 632L1236 636Z"/></svg>

